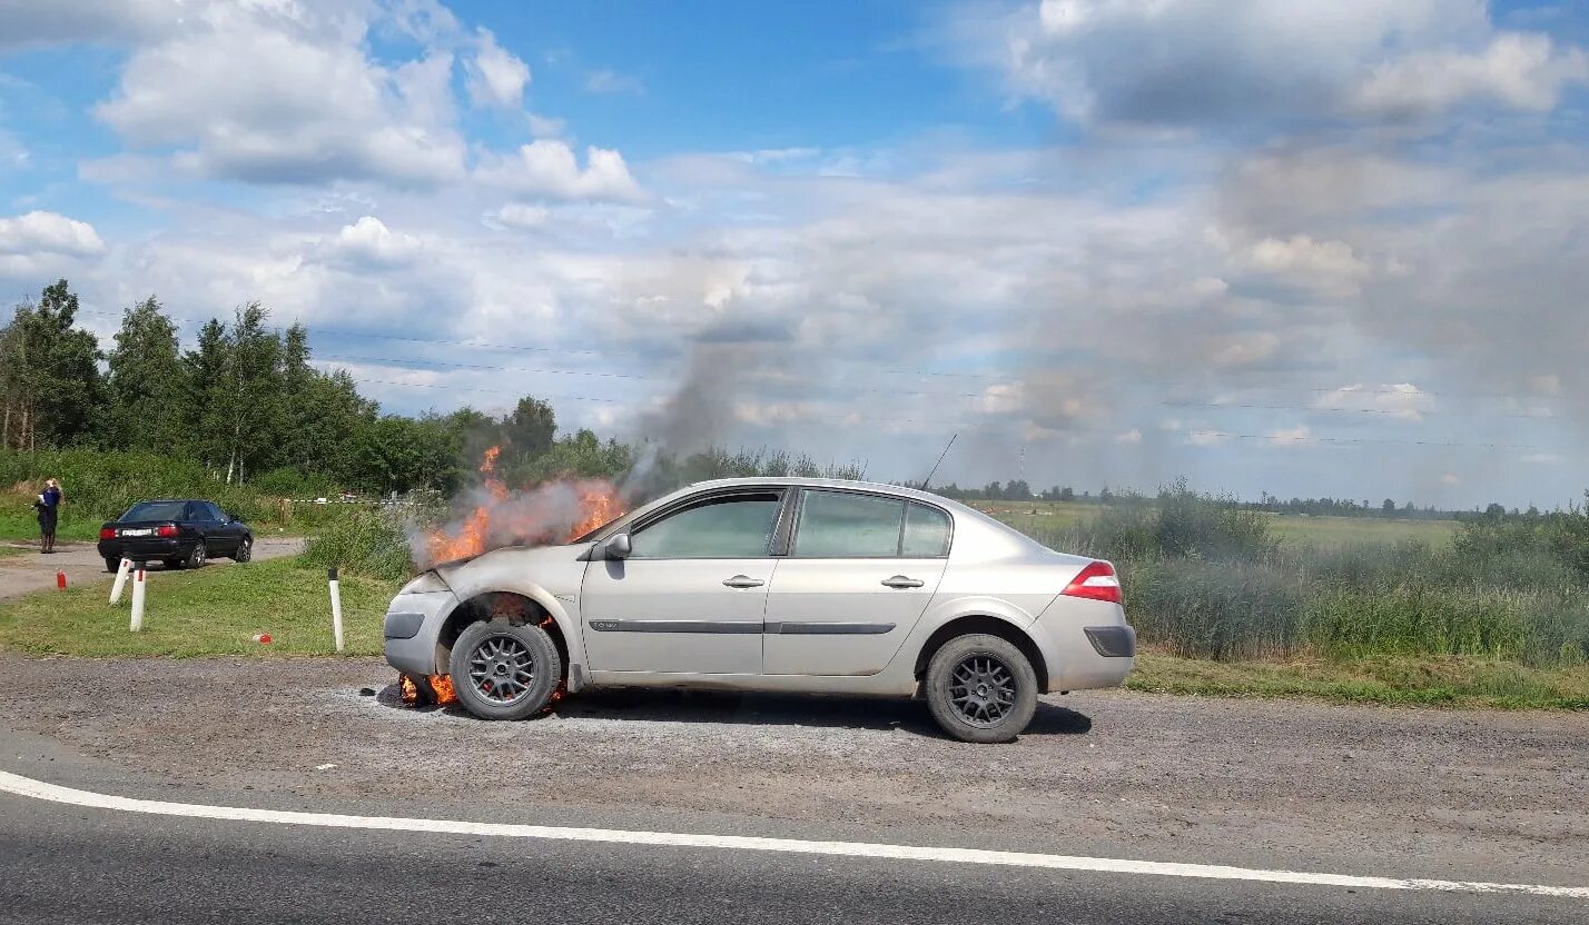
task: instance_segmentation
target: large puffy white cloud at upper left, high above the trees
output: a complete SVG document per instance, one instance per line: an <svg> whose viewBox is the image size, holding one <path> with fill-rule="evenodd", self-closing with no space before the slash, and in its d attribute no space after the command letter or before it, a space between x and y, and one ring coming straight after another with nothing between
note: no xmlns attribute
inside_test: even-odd
<svg viewBox="0 0 1589 925"><path fill-rule="evenodd" d="M200 6L180 33L132 54L95 114L132 146L172 151L202 176L459 176L451 56L383 67L364 48L369 25L324 6Z"/></svg>

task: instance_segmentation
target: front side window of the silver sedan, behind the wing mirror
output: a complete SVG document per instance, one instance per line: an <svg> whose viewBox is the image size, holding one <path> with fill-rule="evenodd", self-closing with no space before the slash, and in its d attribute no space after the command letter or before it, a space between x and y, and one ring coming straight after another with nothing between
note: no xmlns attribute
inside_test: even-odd
<svg viewBox="0 0 1589 925"><path fill-rule="evenodd" d="M707 498L629 536L629 558L760 558L771 555L779 492Z"/></svg>

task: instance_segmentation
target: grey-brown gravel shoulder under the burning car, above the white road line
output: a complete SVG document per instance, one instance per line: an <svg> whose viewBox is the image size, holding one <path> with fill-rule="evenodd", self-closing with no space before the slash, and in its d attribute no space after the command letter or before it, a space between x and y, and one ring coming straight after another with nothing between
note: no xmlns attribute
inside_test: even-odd
<svg viewBox="0 0 1589 925"><path fill-rule="evenodd" d="M1589 882L1584 714L1103 692L1046 697L990 747L920 703L604 692L485 723L392 681L378 658L0 652L0 738L251 804Z"/></svg>

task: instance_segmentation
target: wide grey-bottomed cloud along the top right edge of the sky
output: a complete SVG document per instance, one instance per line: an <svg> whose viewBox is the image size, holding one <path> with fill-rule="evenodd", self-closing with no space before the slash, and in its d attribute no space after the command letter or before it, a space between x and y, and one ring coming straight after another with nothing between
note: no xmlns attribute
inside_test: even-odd
<svg viewBox="0 0 1589 925"><path fill-rule="evenodd" d="M1583 52L1498 30L1473 0L1042 0L960 29L1011 89L1077 122L1543 109L1584 79Z"/></svg>

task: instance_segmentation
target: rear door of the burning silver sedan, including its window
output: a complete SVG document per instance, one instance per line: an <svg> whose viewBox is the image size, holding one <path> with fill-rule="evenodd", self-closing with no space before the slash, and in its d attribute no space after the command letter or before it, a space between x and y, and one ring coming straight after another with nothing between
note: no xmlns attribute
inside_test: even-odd
<svg viewBox="0 0 1589 925"><path fill-rule="evenodd" d="M882 671L933 600L949 543L939 508L804 489L790 555L767 593L763 673Z"/></svg>

